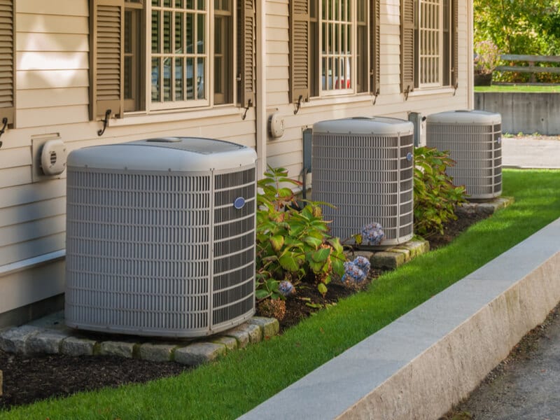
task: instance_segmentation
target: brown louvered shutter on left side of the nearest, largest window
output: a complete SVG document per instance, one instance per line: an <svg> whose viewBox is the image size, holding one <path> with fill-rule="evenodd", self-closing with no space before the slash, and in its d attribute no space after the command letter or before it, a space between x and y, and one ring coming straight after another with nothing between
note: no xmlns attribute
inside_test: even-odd
<svg viewBox="0 0 560 420"><path fill-rule="evenodd" d="M90 1L90 119L123 117L125 0Z"/></svg>

